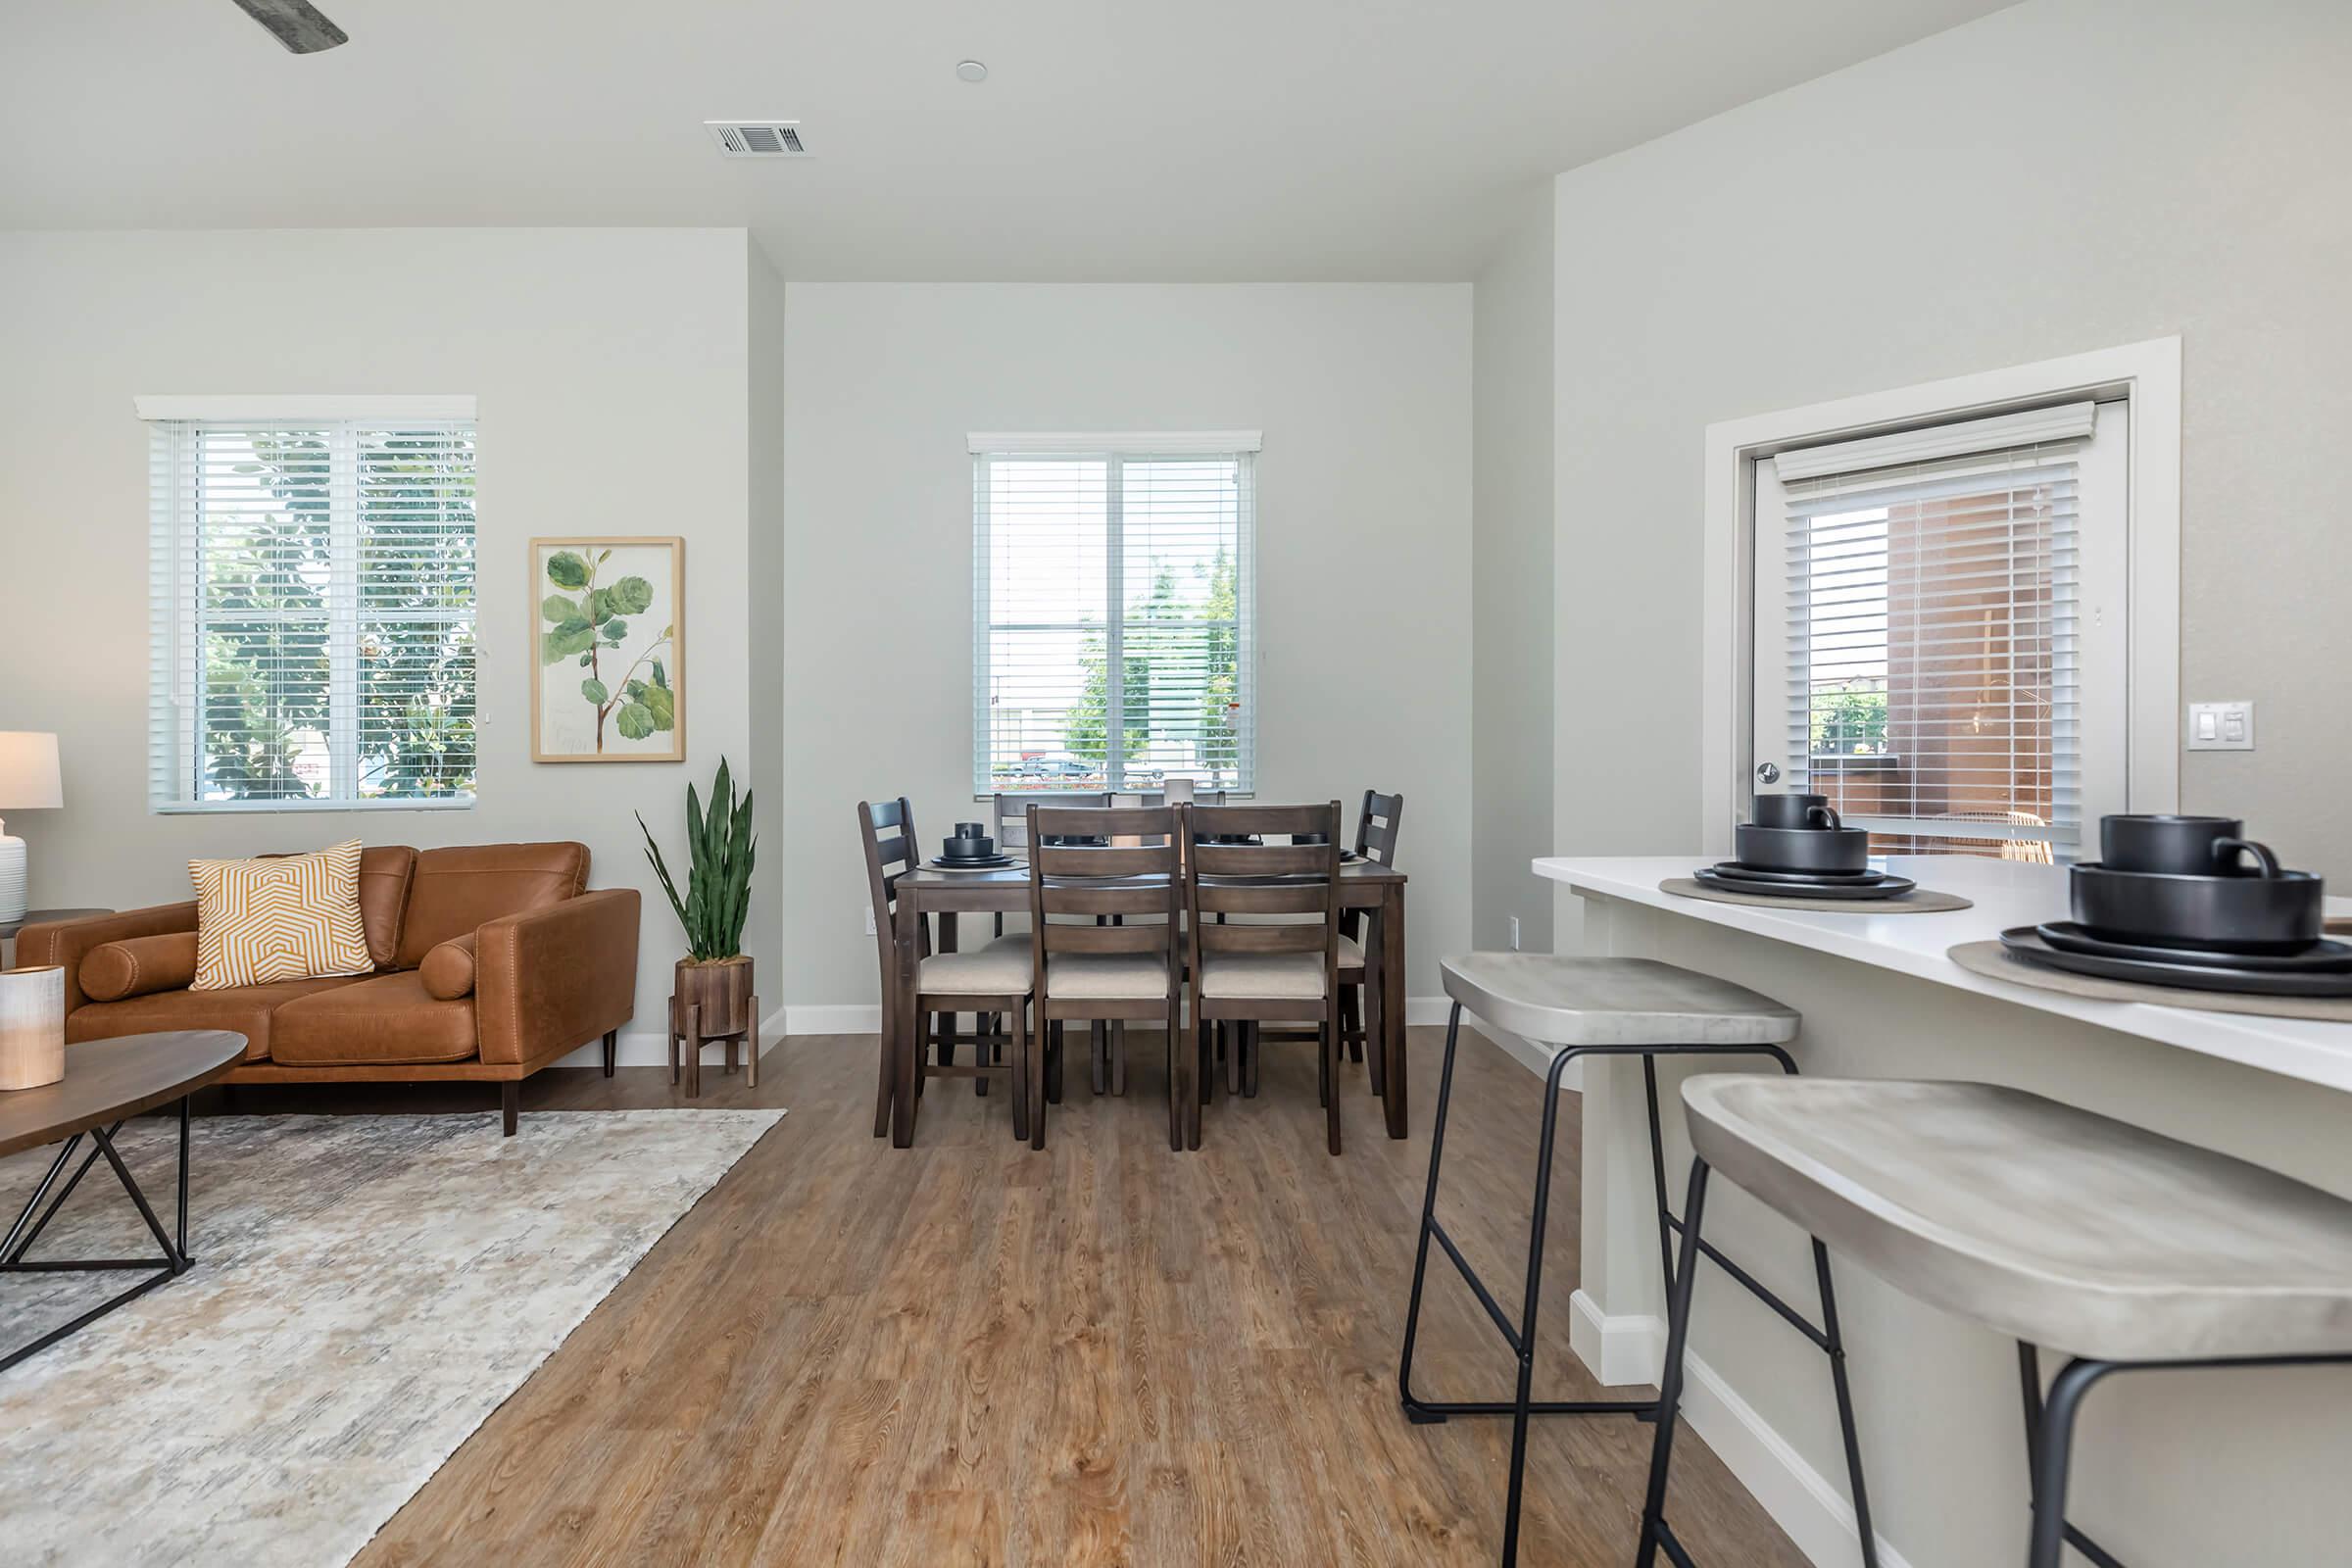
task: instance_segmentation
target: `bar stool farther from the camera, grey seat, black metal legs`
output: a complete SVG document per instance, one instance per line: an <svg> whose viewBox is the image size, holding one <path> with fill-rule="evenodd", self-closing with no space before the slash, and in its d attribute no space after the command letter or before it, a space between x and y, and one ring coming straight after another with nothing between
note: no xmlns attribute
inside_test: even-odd
<svg viewBox="0 0 2352 1568"><path fill-rule="evenodd" d="M1656 1418L1653 1399L1531 1399L1536 1373L1536 1302L1543 1286L1543 1222L1552 1192L1552 1133L1559 1114L1559 1077L1581 1056L1639 1056L1642 1086L1649 1098L1649 1175L1658 1206L1658 1267L1665 1276L1665 1300L1675 1300L1675 1244L1684 1227L1665 1206L1665 1140L1658 1128L1658 1063L1661 1056L1766 1056L1780 1072L1795 1074L1783 1044L1797 1037L1797 1013L1771 997L1717 980L1712 976L1675 969L1656 959L1578 959L1536 952L1472 952L1442 961L1446 994L1454 997L1454 1013L1446 1020L1446 1065L1437 1079L1437 1126L1430 1133L1430 1185L1421 1201L1421 1246L1414 1255L1414 1295L1404 1309L1404 1361L1397 1371L1397 1399L1404 1418L1414 1425L1437 1425L1456 1415L1510 1415L1510 1490L1503 1502L1503 1568L1519 1559L1519 1495L1526 1476L1526 1420L1531 1415L1637 1415ZM1454 1048L1461 1039L1463 1009L1470 1009L1498 1030L1508 1030L1552 1051L1552 1067L1543 1081L1543 1138L1536 1147L1536 1204L1526 1232L1526 1293L1519 1302L1519 1321L1512 1324L1496 1302L1494 1291L1477 1276L1477 1269L1454 1246L1454 1237L1437 1222L1437 1168L1446 1152L1446 1103L1454 1095ZM1778 1079L1773 1079L1778 1081ZM1693 1215L1696 1218L1696 1215ZM1684 1234L1684 1265L1679 1276L1689 1279L1689 1246L1696 1229ZM1444 1248L1463 1281L1477 1295L1486 1316L1501 1331L1503 1342L1519 1356L1519 1385L1512 1399L1435 1401L1414 1394L1414 1338L1421 1328L1421 1286L1430 1265L1430 1237ZM1799 1324L1809 1338L1830 1356L1830 1378L1837 1387L1837 1418L1846 1436L1846 1474L1853 1483L1853 1507L1863 1519L1863 1540L1870 1542L1870 1500L1863 1490L1863 1462L1853 1441L1853 1399L1846 1389L1846 1352L1837 1338L1837 1298L1830 1293L1830 1255L1813 1244L1813 1276L1820 1281L1823 1328L1766 1291L1757 1279L1717 1253L1708 1258L1731 1272L1733 1279L1755 1291L1764 1305L1783 1319ZM1877 1568L1877 1554L1865 1544L1867 1568Z"/></svg>

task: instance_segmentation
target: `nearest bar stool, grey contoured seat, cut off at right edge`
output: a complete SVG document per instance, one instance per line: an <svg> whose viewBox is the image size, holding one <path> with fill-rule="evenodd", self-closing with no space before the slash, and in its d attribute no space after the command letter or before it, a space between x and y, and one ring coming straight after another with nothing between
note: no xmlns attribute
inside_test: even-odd
<svg viewBox="0 0 2352 1568"><path fill-rule="evenodd" d="M1708 1074L1682 1105L1698 1157L1639 1568L1691 1561L1663 1507L1710 1171L2018 1342L2027 1568L2063 1544L2119 1568L2065 1521L2074 1418L2110 1373L2352 1361L2352 1204L2263 1166L1992 1084ZM2070 1354L2046 1399L2042 1345Z"/></svg>

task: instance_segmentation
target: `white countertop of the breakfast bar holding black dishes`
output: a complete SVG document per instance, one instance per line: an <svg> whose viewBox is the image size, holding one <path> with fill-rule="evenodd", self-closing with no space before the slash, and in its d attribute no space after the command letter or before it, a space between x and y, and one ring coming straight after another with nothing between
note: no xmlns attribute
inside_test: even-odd
<svg viewBox="0 0 2352 1568"><path fill-rule="evenodd" d="M2018 1006L2082 1018L2105 1030L2183 1046L2230 1063L2263 1067L2305 1084L2352 1088L2352 1025L2251 1013L2199 1013L2147 1001L2086 1001L2060 992L2011 985L1969 973L1943 957L1957 943L1997 938L2006 926L2067 917L2067 875L2058 865L2023 865L1980 856L1889 856L1879 865L1924 889L1973 898L1973 910L1945 914L1830 914L1766 910L1661 893L1668 877L1689 877L1712 856L1545 856L1536 875L1571 891L1621 898L1651 910L1731 926L1776 943L1797 943L1856 964L1893 969L1936 985L1999 997ZM2352 900L2331 898L2328 914L2352 914Z"/></svg>

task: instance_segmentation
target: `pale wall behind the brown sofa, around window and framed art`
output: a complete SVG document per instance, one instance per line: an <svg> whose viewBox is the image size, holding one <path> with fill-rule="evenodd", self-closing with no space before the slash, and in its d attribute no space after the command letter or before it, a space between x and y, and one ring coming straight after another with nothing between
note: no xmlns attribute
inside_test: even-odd
<svg viewBox="0 0 2352 1568"><path fill-rule="evenodd" d="M0 729L59 731L66 809L9 820L33 900L188 896L191 856L581 839L644 891L635 1034L682 943L633 811L682 853L684 790L750 759L743 230L0 235L0 559L16 675ZM139 393L480 400L480 806L151 816ZM534 534L687 538L684 766L532 762ZM776 851L781 853L781 846ZM652 1058L649 1058L652 1060Z"/></svg>

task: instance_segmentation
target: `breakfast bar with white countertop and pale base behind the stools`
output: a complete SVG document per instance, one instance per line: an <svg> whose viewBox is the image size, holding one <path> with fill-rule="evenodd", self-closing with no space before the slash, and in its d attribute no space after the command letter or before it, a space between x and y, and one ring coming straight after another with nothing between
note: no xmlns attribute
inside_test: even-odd
<svg viewBox="0 0 2352 1568"><path fill-rule="evenodd" d="M2352 1025L2089 1001L1973 976L1947 947L2065 919L2065 870L1898 856L1889 870L1976 900L1947 914L1828 914L1658 891L1712 856L1564 856L1562 931L1750 985L1804 1016L1811 1077L2011 1084L2352 1194ZM2345 912L2331 900L2328 912ZM1573 945L1564 945L1573 950ZM1522 1053L1524 1056L1524 1053ZM1665 1349L1642 1067L1585 1058L1571 1345L1609 1385L1653 1382ZM1679 1084L1750 1063L1658 1063L1668 1185L1689 1173ZM1458 1128L1456 1135L1468 1135ZM2063 1199L2060 1199L2063 1201ZM1783 1300L1818 1309L1811 1255L1733 1182L1708 1239ZM1832 1255L1882 1561L2025 1559L2016 1347ZM2053 1371L2065 1347L2051 1347ZM1552 1352L1543 1352L1552 1354ZM1538 1385L1543 1373L1538 1371ZM1816 1563L1856 1561L1830 1378L1788 1324L1700 1265L1684 1415ZM2352 1371L2164 1373L2103 1385L2084 1413L2067 1514L2126 1563L2343 1563L2352 1540ZM2293 1500L2281 1505L2281 1500ZM1628 1535L1630 1552L1630 1535Z"/></svg>

